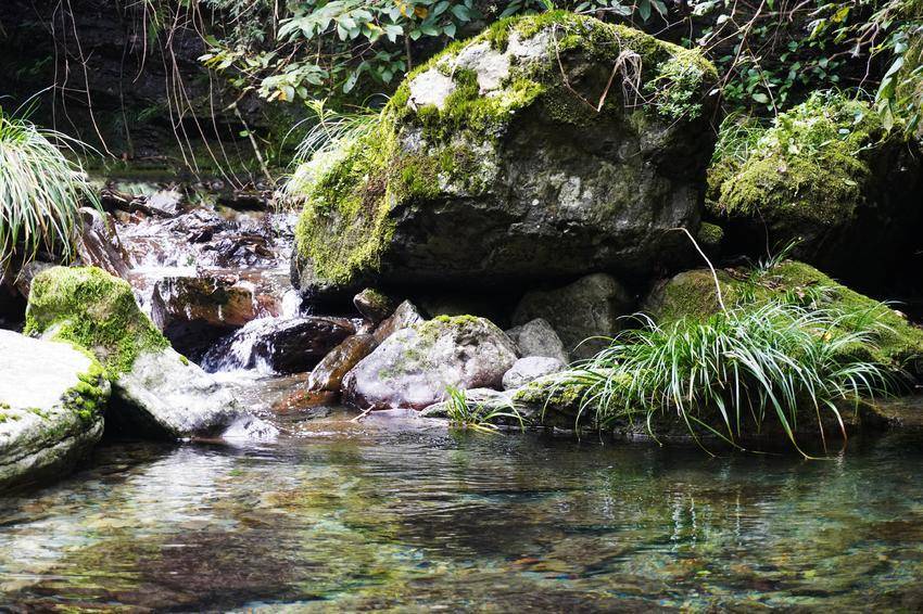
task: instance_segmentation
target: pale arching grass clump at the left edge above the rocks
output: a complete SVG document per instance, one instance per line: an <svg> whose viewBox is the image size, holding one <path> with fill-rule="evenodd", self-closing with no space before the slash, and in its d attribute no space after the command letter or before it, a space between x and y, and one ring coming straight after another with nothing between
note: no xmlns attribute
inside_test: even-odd
<svg viewBox="0 0 923 614"><path fill-rule="evenodd" d="M77 209L100 206L83 168L68 157L84 148L0 110L0 270L41 250L71 258Z"/></svg>

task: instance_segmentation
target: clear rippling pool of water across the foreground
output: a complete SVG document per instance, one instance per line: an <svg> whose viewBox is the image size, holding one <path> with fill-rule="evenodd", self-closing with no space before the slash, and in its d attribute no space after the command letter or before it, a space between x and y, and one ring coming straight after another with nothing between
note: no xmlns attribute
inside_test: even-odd
<svg viewBox="0 0 923 614"><path fill-rule="evenodd" d="M900 435L709 458L337 413L106 444L0 500L0 609L918 610L921 460Z"/></svg>

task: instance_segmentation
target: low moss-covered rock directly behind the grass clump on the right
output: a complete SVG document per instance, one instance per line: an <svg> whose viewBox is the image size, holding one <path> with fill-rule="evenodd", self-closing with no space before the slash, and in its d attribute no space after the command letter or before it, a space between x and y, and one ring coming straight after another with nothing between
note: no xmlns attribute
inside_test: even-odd
<svg viewBox="0 0 923 614"><path fill-rule="evenodd" d="M839 328L844 332L874 323L875 344L856 346L850 351L923 375L923 330L887 305L837 283L810 265L787 260L768 271L726 269L718 271L718 279L728 307L782 299L842 315ZM658 285L644 308L660 324L680 318L704 319L720 309L715 278L708 269L682 272Z"/></svg>

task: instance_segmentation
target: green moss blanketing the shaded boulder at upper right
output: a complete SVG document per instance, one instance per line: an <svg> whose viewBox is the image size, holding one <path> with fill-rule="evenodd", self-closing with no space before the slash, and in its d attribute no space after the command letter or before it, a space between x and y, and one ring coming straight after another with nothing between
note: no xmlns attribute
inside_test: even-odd
<svg viewBox="0 0 923 614"><path fill-rule="evenodd" d="M794 231L850 220L872 177L870 156L887 138L867 103L817 93L776 117L745 159L713 162L712 213L762 214Z"/></svg>

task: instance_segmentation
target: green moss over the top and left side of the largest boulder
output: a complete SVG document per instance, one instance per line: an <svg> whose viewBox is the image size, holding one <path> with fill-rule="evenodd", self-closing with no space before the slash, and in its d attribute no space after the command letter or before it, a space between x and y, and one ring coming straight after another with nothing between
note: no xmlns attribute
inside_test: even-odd
<svg viewBox="0 0 923 614"><path fill-rule="evenodd" d="M486 86L471 68L473 61L462 59L472 50L496 57L511 41L522 49L540 37L541 44L522 52L528 60L504 56L511 60L494 75L493 85ZM624 52L641 66L632 88L647 92L635 111L627 103L637 101L623 100L619 84L597 110L561 82L560 57L566 61L573 53L608 66L608 77ZM451 91L444 100L415 102L412 84L425 74L447 84ZM295 282L303 289L337 292L371 281L408 209L478 199L494 187L500 152L526 108L540 110L561 127L592 127L605 117L631 124L631 129L658 121L670 125L695 117L716 79L715 67L698 52L624 26L562 11L503 20L417 67L369 133L341 142L325 161L299 167L288 189L304 204L295 234ZM602 92L585 93L595 102Z"/></svg>

